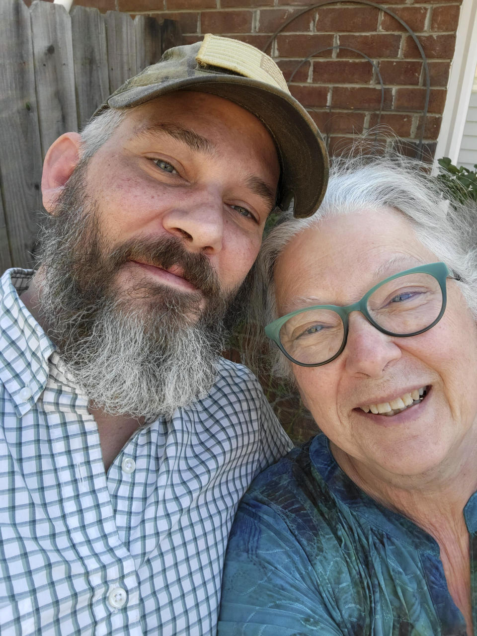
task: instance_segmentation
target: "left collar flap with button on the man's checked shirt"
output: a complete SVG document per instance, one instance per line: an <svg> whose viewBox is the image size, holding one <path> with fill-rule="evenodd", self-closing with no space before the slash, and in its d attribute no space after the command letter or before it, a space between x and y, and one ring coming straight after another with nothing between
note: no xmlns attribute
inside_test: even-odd
<svg viewBox="0 0 477 636"><path fill-rule="evenodd" d="M0 380L18 417L29 411L44 391L48 359L55 345L19 298L32 270L13 268L0 279Z"/></svg>

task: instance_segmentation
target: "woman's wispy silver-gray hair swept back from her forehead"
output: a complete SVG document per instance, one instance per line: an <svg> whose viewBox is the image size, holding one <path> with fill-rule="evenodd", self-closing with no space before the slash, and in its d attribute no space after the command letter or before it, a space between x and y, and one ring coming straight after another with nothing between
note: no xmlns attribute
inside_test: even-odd
<svg viewBox="0 0 477 636"><path fill-rule="evenodd" d="M420 242L436 254L436 260L444 261L460 276L462 294L477 318L477 211L453 200L428 170L428 166L399 155L338 158L318 211L307 219L294 219L291 212L285 213L284 221L263 242L252 281L245 358L254 370L263 369L265 356L274 375L293 381L290 363L263 335L264 326L278 317L275 262L296 235L316 227L322 219L350 212L387 207L402 214Z"/></svg>

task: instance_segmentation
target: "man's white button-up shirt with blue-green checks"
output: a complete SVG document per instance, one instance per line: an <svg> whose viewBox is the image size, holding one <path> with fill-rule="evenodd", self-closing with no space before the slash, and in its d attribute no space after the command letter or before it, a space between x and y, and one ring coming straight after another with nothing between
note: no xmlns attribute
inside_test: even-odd
<svg viewBox="0 0 477 636"><path fill-rule="evenodd" d="M0 280L0 633L215 633L237 502L290 447L246 368L130 438L105 473L88 399Z"/></svg>

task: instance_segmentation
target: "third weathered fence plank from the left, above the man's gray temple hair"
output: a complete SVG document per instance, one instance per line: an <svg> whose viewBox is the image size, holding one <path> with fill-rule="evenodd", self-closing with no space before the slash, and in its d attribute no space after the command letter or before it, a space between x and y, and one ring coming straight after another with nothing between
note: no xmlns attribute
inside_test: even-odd
<svg viewBox="0 0 477 636"><path fill-rule="evenodd" d="M71 31L78 125L82 128L109 95L106 17L97 9L75 6L71 11Z"/></svg>

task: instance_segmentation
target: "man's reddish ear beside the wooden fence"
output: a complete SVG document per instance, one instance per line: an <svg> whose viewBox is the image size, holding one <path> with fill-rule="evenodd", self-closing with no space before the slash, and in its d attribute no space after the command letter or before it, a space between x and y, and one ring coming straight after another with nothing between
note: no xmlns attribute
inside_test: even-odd
<svg viewBox="0 0 477 636"><path fill-rule="evenodd" d="M53 141L43 162L41 192L43 205L50 214L55 213L58 197L63 191L81 156L81 135L66 132Z"/></svg>

